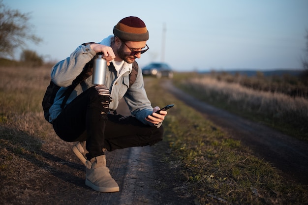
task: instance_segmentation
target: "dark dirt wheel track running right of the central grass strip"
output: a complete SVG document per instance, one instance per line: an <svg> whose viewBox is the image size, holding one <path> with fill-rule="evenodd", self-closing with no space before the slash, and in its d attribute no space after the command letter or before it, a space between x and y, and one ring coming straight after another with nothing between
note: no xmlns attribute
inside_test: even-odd
<svg viewBox="0 0 308 205"><path fill-rule="evenodd" d="M163 81L163 88L173 93L195 110L220 126L236 140L249 146L256 156L273 163L282 175L290 180L308 185L308 144L284 135L264 125L234 116L205 104Z"/></svg>

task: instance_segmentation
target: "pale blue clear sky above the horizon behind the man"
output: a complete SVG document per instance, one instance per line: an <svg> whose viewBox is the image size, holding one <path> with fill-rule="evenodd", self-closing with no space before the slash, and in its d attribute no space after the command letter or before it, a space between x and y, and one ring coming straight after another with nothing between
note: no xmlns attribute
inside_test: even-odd
<svg viewBox="0 0 308 205"><path fill-rule="evenodd" d="M124 17L150 33L140 67L164 61L176 71L302 69L308 0L3 0L30 13L46 60L59 61L82 43L113 34ZM15 59L19 59L18 54Z"/></svg>

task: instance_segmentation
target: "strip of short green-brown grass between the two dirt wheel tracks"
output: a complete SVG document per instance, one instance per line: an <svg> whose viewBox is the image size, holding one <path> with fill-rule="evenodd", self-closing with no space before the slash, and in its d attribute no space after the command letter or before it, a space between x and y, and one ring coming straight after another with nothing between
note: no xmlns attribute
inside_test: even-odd
<svg viewBox="0 0 308 205"><path fill-rule="evenodd" d="M270 163L255 157L240 141L226 138L219 127L158 85L158 80L146 85L153 104L176 105L164 121L169 150L164 157L184 177L196 204L301 205L308 201L307 187L285 180Z"/></svg>

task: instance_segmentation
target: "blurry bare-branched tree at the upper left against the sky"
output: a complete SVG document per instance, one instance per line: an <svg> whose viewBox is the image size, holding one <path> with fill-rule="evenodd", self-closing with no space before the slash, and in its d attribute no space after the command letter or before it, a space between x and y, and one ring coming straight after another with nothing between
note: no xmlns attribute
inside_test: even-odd
<svg viewBox="0 0 308 205"><path fill-rule="evenodd" d="M25 48L26 40L37 44L41 38L32 34L32 25L29 24L30 13L20 13L5 7L0 0L0 56L13 57L17 48Z"/></svg>

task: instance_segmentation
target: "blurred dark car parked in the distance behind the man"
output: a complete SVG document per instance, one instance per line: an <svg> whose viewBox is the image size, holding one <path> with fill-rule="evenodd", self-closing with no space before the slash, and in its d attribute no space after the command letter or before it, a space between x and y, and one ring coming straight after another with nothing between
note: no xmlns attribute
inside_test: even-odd
<svg viewBox="0 0 308 205"><path fill-rule="evenodd" d="M156 78L167 77L173 78L173 70L164 62L152 62L149 65L142 68L142 75L154 76Z"/></svg>

